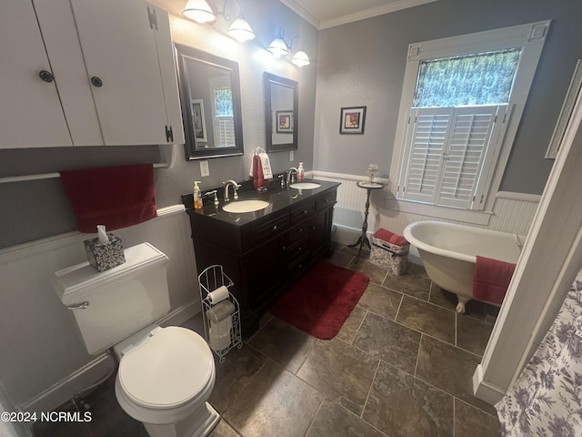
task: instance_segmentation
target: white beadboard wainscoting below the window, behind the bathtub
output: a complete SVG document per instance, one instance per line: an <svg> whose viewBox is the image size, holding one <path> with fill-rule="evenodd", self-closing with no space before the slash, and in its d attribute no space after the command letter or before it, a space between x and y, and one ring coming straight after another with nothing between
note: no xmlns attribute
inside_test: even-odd
<svg viewBox="0 0 582 437"><path fill-rule="evenodd" d="M366 189L358 188L356 182L364 180L366 177L323 171L314 171L313 177L341 182L342 185L337 190L337 204L334 210L334 225L336 225L337 229L334 239L342 244L352 244L361 232L366 204ZM381 178L376 180L386 181L386 179ZM385 228L402 234L406 226L415 221L440 220L526 236L541 198L541 196L531 194L499 192L487 225L477 225L460 220L437 219L426 215L384 208L387 197L391 197L387 192L387 188L372 191L367 220L367 230L370 234L373 234L378 228Z"/></svg>

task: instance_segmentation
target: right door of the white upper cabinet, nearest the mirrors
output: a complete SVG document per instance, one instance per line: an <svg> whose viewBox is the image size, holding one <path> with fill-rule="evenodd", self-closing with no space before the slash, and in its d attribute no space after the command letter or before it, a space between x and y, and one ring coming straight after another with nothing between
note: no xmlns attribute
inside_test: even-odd
<svg viewBox="0 0 582 437"><path fill-rule="evenodd" d="M158 48L171 53L171 42L156 42L166 12L143 0L71 0L71 5L105 145L174 142L166 138L164 93L175 91L178 104L177 86L164 88L158 59ZM176 132L181 128L181 122L172 126Z"/></svg>

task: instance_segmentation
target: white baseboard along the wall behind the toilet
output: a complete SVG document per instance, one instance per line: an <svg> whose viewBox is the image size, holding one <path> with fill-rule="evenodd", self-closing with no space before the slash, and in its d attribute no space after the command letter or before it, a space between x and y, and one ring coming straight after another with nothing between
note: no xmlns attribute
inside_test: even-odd
<svg viewBox="0 0 582 437"><path fill-rule="evenodd" d="M198 312L200 312L200 299L196 298L176 308L163 319L158 320L158 324L161 326L178 326L194 317ZM30 401L20 405L19 410L36 412L37 414L55 411L56 408L72 399L76 393L85 390L95 381L99 381L108 373L115 371L115 365L115 360L108 354L103 353Z"/></svg>

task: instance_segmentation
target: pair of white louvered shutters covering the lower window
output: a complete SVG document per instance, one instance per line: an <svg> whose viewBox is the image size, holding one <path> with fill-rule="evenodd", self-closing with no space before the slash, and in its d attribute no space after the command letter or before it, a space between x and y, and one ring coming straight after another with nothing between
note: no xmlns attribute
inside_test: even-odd
<svg viewBox="0 0 582 437"><path fill-rule="evenodd" d="M479 209L507 105L413 108L398 198ZM498 120L498 122L496 122Z"/></svg>

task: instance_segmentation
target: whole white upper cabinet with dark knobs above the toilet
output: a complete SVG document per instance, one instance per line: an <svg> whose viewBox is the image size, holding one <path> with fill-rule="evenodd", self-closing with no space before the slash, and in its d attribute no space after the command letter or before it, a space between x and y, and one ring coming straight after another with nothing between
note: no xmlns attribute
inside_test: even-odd
<svg viewBox="0 0 582 437"><path fill-rule="evenodd" d="M9 96L10 103L2 102L4 135L0 137L6 137L5 125L10 125L11 138L9 143L3 139L2 147L184 142L166 11L143 0L33 3L34 9L30 1L24 0L2 4L0 35L3 40L15 41L15 55L5 53L10 47L4 45L0 54L3 59L16 58L8 83L18 83L18 92ZM6 5L10 5L8 13ZM20 14L15 15L13 9ZM9 35L4 21L27 23L30 28L22 30L20 25L14 25L15 34ZM25 42L15 38L24 33ZM36 47L33 56L25 44L41 48ZM36 66L41 62L33 61L36 57L44 58L50 66L45 69L53 74L53 82L46 83L38 77L36 70L44 67ZM6 63L2 64L4 71ZM55 121L55 116L48 121L43 119L48 109L38 109L39 83L51 87L56 101L52 112L60 115L59 120ZM22 109L15 112L12 106ZM13 126L15 122L19 128ZM52 139L63 125L66 135ZM29 131L23 136L21 129ZM51 140L47 141L47 137Z"/></svg>

